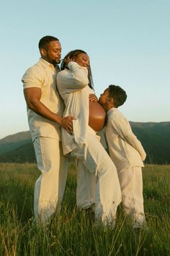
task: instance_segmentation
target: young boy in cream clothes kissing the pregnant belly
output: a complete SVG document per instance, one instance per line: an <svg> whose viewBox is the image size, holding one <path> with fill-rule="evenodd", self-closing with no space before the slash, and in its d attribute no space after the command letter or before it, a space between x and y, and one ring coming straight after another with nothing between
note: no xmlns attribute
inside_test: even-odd
<svg viewBox="0 0 170 256"><path fill-rule="evenodd" d="M143 209L143 161L146 152L135 137L128 120L117 109L126 101L127 95L117 85L109 85L100 95L99 103L107 111L106 137L109 155L117 167L125 214L133 220L133 227L145 223Z"/></svg>

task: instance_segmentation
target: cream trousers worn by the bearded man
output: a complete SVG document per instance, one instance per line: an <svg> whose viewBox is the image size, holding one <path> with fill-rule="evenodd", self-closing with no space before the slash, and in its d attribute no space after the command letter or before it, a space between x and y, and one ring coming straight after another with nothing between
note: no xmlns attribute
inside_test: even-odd
<svg viewBox="0 0 170 256"><path fill-rule="evenodd" d="M63 156L61 142L49 137L34 141L37 167L42 172L35 183L35 219L46 221L55 210L61 210L66 187L68 158Z"/></svg>

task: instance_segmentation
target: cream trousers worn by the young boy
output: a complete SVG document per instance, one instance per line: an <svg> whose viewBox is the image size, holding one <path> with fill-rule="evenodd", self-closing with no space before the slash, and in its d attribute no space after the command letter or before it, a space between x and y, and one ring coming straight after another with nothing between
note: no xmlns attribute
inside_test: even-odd
<svg viewBox="0 0 170 256"><path fill-rule="evenodd" d="M141 167L128 167L118 171L122 190L122 206L137 226L145 221L143 208L143 178Z"/></svg>

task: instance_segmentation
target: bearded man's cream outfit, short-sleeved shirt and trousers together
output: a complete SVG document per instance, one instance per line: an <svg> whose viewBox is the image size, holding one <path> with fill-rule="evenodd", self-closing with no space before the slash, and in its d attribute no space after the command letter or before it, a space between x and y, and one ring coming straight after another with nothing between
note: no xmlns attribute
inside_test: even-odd
<svg viewBox="0 0 170 256"><path fill-rule="evenodd" d="M62 116L63 100L56 88L57 72L48 61L41 59L24 73L25 88L40 88L40 101L55 114ZM27 108L28 123L35 147L37 167L42 174L35 184L35 218L46 221L58 208L66 185L68 158L61 148L61 127Z"/></svg>

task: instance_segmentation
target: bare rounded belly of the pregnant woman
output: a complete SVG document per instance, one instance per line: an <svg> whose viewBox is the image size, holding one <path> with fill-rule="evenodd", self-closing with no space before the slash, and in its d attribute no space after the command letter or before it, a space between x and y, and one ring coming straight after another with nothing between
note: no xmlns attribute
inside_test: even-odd
<svg viewBox="0 0 170 256"><path fill-rule="evenodd" d="M89 126L94 131L99 132L103 129L106 121L106 112L104 108L94 101L89 101Z"/></svg>

